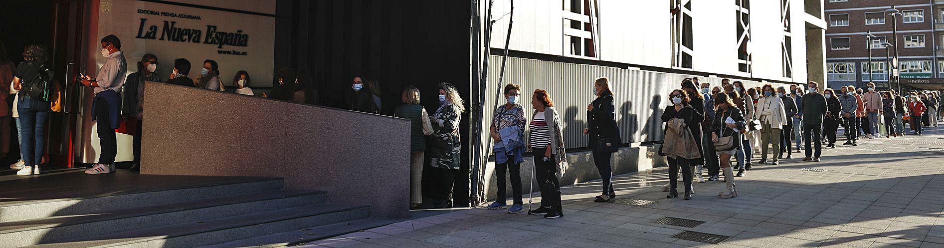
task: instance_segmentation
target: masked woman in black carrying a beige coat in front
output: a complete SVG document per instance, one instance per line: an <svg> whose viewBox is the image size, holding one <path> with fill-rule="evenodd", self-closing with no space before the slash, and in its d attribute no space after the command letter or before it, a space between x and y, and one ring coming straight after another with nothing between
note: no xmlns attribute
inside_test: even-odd
<svg viewBox="0 0 944 248"><path fill-rule="evenodd" d="M699 116L701 113L688 105L688 95L685 91L675 90L668 95L672 105L666 107L662 114L662 121L666 123L665 140L659 147L659 155L668 159L668 177L670 189L666 198L679 197L676 190L679 176L679 169L682 169L682 181L685 186L685 200L691 200L695 189L692 188L692 171L689 167L692 159L700 159L701 152L698 151L697 140L692 133L700 128L695 124L695 120L703 119ZM671 130L671 131L670 131Z"/></svg>

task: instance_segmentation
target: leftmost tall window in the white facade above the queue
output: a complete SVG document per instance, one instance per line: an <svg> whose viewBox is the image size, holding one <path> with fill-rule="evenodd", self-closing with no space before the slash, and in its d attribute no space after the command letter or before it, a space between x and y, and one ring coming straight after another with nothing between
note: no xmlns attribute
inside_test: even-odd
<svg viewBox="0 0 944 248"><path fill-rule="evenodd" d="M564 1L564 44L567 56L597 58L598 16L591 6L596 1Z"/></svg>

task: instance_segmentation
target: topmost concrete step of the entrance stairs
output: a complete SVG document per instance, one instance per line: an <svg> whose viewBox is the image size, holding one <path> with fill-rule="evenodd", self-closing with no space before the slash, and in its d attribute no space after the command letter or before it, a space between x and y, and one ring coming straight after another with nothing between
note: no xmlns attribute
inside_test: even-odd
<svg viewBox="0 0 944 248"><path fill-rule="evenodd" d="M11 201L7 204L0 205L0 223L19 222L57 216L109 213L127 208L191 202L217 197L254 194L283 189L284 184L282 179L261 177L258 179L235 180L223 184L213 183L212 185L190 185L180 188L145 191L119 190L115 193L108 193L104 195L68 198L49 197L41 200L16 202ZM28 189L21 190L26 191ZM24 193L21 192L18 194Z"/></svg>

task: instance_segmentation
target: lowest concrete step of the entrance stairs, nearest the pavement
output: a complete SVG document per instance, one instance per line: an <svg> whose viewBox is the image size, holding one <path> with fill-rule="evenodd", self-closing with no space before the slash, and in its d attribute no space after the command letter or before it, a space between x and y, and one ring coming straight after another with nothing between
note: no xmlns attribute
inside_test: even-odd
<svg viewBox="0 0 944 248"><path fill-rule="evenodd" d="M309 227L291 232L254 237L245 240L229 241L221 244L203 246L200 248L233 248L233 247L252 247L252 248L275 248L294 245L313 240L324 240L331 237L337 237L348 233L358 232L374 227L379 227L391 223L397 223L402 220L388 218L367 218L354 220L344 223L332 223L327 225Z"/></svg>

